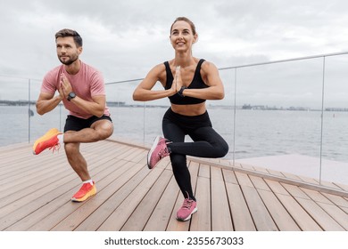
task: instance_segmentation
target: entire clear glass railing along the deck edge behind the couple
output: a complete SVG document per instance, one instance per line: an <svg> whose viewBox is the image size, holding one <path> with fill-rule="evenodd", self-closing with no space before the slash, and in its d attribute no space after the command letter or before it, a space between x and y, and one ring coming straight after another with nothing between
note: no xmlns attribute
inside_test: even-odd
<svg viewBox="0 0 348 249"><path fill-rule="evenodd" d="M207 100L207 108L214 129L228 141L226 158L347 184L347 60L346 54L331 54L220 69L225 98ZM139 82L106 84L112 138L149 145L162 134L170 101L132 100ZM62 131L68 114L62 105L37 114L40 87L41 80L0 76L0 128L13 131L2 133L0 146L33 142L52 127ZM160 83L153 88L160 89Z"/></svg>

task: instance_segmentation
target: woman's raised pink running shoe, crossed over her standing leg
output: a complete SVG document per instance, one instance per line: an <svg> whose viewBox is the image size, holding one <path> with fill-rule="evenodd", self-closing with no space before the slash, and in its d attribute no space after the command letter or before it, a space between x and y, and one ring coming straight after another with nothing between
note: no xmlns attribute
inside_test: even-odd
<svg viewBox="0 0 348 249"><path fill-rule="evenodd" d="M167 144L168 140L162 138L161 136L157 136L153 141L153 146L147 154L147 166L150 170L153 169L163 157L170 155Z"/></svg>

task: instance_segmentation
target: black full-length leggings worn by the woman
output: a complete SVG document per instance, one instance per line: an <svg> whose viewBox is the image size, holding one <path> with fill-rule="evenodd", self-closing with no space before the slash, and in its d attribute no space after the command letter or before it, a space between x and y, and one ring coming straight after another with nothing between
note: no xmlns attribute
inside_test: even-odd
<svg viewBox="0 0 348 249"><path fill-rule="evenodd" d="M212 129L208 112L199 116L183 116L169 108L163 116L162 130L164 138L171 141L168 148L178 187L184 197L195 200L191 176L186 165L186 155L225 157L228 154L228 143ZM185 135L189 135L193 142L185 142Z"/></svg>

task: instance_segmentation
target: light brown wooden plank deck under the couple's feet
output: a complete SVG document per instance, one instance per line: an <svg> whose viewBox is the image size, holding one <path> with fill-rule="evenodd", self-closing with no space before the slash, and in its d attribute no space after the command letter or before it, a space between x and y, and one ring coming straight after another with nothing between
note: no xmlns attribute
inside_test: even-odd
<svg viewBox="0 0 348 249"><path fill-rule="evenodd" d="M0 230L348 230L344 185L189 157L198 212L179 222L183 197L168 157L150 171L146 148L99 141L81 149L98 193L72 203L80 181L63 149L0 148Z"/></svg>

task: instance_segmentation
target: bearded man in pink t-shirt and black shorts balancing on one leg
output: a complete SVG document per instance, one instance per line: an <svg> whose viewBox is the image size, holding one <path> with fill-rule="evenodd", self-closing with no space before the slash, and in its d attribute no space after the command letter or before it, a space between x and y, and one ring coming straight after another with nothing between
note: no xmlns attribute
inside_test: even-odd
<svg viewBox="0 0 348 249"><path fill-rule="evenodd" d="M71 200L82 202L95 195L96 189L95 181L88 173L87 162L79 151L79 144L110 137L113 124L106 107L103 76L79 60L81 36L74 30L62 29L55 34L55 43L62 65L46 74L37 99L37 113L44 115L62 101L69 115L64 133L55 128L49 130L34 143L33 153L37 155L63 144L69 164L83 181ZM54 96L55 92L59 94Z"/></svg>

